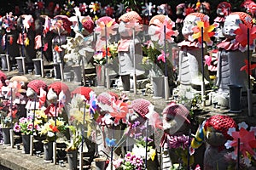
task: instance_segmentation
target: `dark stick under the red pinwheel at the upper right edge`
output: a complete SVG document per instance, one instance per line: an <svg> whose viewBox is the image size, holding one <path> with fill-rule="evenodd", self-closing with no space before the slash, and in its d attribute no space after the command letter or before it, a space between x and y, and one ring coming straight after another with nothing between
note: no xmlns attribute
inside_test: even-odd
<svg viewBox="0 0 256 170"><path fill-rule="evenodd" d="M248 61L248 88L247 88L247 101L248 101L248 116L253 115L253 105L252 105L252 91L251 91L251 81L250 81L250 29L247 28L247 61Z"/></svg>

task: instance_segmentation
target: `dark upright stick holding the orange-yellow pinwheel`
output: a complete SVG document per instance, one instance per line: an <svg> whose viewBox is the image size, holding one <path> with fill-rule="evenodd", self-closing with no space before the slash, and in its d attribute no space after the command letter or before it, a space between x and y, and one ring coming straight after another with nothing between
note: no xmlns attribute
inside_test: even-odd
<svg viewBox="0 0 256 170"><path fill-rule="evenodd" d="M205 100L205 68L204 68L204 29L201 27L201 101L202 106L206 105Z"/></svg>

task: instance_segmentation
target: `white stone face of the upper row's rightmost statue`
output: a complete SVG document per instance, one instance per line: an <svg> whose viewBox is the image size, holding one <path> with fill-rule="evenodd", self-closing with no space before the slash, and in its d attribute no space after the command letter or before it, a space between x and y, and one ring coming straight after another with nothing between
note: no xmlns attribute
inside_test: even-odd
<svg viewBox="0 0 256 170"><path fill-rule="evenodd" d="M236 37L236 34L234 33L234 31L236 31L236 29L239 28L240 23L242 22L238 14L228 15L224 21L224 27L223 27L224 37L234 39Z"/></svg>

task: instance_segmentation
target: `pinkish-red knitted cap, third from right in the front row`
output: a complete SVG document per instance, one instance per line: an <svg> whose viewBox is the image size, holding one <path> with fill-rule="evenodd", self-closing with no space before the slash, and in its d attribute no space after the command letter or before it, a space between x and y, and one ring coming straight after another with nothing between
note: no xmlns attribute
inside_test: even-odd
<svg viewBox="0 0 256 170"><path fill-rule="evenodd" d="M131 108L143 117L145 117L148 114L149 105L150 102L146 99L134 99L131 102Z"/></svg>

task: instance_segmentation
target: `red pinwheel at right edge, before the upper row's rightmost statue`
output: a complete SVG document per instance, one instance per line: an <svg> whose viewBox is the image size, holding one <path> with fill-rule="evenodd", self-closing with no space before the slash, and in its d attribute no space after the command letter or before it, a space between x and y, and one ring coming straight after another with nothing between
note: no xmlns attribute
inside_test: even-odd
<svg viewBox="0 0 256 170"><path fill-rule="evenodd" d="M251 24L249 22L247 23L247 26L244 24L239 24L240 28L237 28L234 33L236 34L236 42L239 42L241 44L241 47L245 48L247 46L247 28L249 28L249 45L253 45L253 40L256 38L256 27L251 27Z"/></svg>

